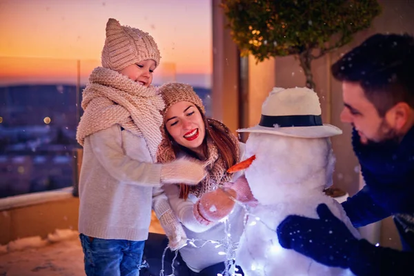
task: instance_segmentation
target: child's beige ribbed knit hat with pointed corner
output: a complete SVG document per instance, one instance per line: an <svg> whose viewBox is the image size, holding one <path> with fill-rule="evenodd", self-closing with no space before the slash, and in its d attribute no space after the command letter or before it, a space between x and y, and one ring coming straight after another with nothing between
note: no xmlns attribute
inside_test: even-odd
<svg viewBox="0 0 414 276"><path fill-rule="evenodd" d="M108 19L101 57L104 68L120 71L147 59L154 60L155 66L159 66L160 58L157 43L148 32L121 26L116 19Z"/></svg>

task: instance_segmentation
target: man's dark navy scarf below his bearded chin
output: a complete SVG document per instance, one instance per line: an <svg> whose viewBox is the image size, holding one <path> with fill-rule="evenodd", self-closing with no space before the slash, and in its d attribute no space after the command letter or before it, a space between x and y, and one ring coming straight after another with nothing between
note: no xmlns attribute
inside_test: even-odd
<svg viewBox="0 0 414 276"><path fill-rule="evenodd" d="M354 130L353 148L361 164L368 193L375 203L393 215L413 216L414 127L400 143L385 141L368 145L361 144Z"/></svg>

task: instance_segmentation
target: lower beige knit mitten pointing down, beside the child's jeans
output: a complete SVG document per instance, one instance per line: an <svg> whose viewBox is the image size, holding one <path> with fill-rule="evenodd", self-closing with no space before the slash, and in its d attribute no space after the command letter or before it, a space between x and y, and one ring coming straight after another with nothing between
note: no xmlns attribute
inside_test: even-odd
<svg viewBox="0 0 414 276"><path fill-rule="evenodd" d="M159 217L159 223L168 237L168 247L172 251L179 250L186 245L187 235L171 209Z"/></svg>

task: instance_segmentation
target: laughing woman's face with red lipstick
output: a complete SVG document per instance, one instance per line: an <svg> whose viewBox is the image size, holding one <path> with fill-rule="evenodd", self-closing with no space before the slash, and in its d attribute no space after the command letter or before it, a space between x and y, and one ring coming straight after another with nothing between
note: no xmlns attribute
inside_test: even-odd
<svg viewBox="0 0 414 276"><path fill-rule="evenodd" d="M164 117L168 133L179 145L195 152L201 149L206 128L199 109L189 101L179 101L168 108Z"/></svg>

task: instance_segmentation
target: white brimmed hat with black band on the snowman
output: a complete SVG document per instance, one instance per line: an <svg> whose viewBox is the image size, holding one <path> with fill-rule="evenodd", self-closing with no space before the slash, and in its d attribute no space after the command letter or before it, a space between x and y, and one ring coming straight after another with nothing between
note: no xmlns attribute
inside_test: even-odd
<svg viewBox="0 0 414 276"><path fill-rule="evenodd" d="M317 94L309 88L273 88L262 105L257 126L237 132L257 132L301 138L323 138L342 134L330 124L322 124Z"/></svg>

